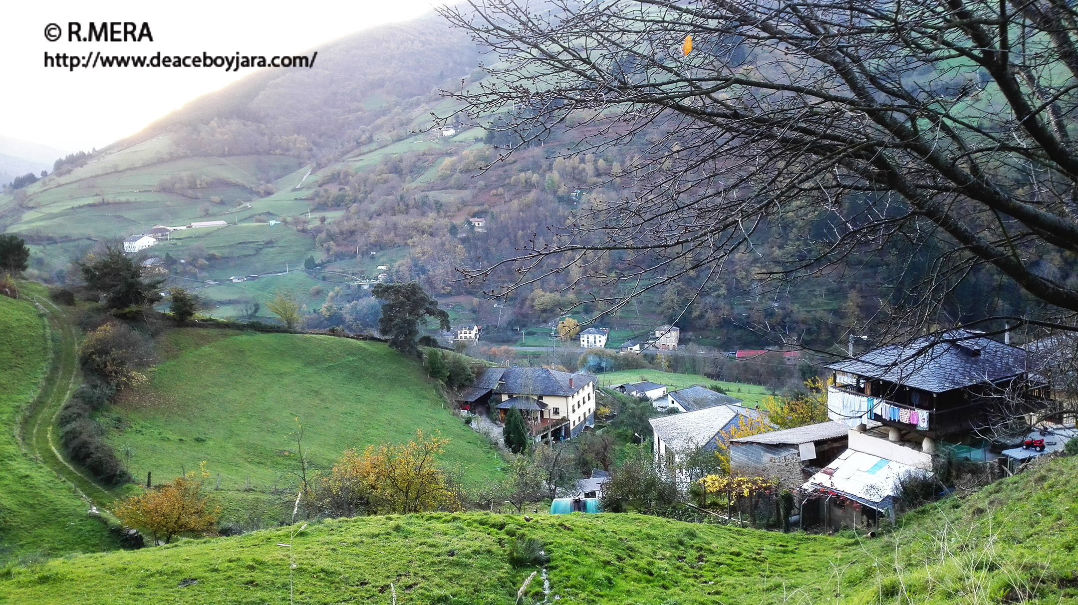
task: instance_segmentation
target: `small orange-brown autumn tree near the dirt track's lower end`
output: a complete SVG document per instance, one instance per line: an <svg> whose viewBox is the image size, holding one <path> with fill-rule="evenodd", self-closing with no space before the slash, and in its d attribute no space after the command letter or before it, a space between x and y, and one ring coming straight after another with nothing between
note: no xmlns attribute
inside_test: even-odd
<svg viewBox="0 0 1078 605"><path fill-rule="evenodd" d="M185 533L204 534L213 529L221 507L202 493L209 477L203 463L201 473L191 472L171 483L136 494L116 505L115 516L133 527L153 534L154 541Z"/></svg>

